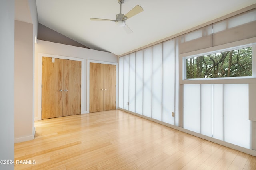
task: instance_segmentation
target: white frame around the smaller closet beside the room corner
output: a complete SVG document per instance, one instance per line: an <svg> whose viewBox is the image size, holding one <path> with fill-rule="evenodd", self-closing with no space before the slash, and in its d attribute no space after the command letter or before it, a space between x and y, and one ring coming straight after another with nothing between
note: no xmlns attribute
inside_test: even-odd
<svg viewBox="0 0 256 170"><path fill-rule="evenodd" d="M116 65L116 109L118 108L118 63L112 63L107 61L98 61L98 60L90 60L87 59L87 111L86 113L90 113L90 63L100 63L100 64L110 64Z"/></svg>

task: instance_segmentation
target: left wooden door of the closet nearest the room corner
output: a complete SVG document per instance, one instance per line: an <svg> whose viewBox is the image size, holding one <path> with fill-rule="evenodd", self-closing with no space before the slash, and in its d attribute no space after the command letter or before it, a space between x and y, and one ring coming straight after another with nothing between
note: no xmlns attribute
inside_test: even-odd
<svg viewBox="0 0 256 170"><path fill-rule="evenodd" d="M104 66L90 63L90 113L103 111Z"/></svg>

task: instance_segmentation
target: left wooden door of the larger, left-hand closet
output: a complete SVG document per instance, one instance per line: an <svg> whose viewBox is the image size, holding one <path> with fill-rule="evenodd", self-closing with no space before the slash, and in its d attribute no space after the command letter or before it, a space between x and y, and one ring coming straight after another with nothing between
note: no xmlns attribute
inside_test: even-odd
<svg viewBox="0 0 256 170"><path fill-rule="evenodd" d="M61 59L42 57L42 119L62 116L62 65Z"/></svg>

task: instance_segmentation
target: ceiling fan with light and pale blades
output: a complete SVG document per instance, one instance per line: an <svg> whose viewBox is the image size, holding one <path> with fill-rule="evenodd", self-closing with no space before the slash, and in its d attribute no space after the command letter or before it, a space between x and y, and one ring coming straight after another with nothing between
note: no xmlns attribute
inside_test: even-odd
<svg viewBox="0 0 256 170"><path fill-rule="evenodd" d="M143 9L141 8L141 6L136 5L134 8L132 8L132 10L130 10L127 14L124 15L122 14L122 4L124 4L125 0L117 0L117 1L120 4L120 13L116 14L116 20L101 19L101 18L90 18L90 19L93 21L112 21L112 22L115 22L116 25L118 25L119 27L124 27L127 33L132 33L132 30L126 25L125 21L139 14L140 12L143 11Z"/></svg>

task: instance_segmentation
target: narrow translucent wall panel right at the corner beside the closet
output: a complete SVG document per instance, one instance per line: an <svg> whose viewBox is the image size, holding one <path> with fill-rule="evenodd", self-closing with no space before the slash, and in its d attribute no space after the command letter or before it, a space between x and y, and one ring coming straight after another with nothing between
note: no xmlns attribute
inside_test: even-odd
<svg viewBox="0 0 256 170"><path fill-rule="evenodd" d="M118 107L124 108L124 57L119 58L118 64Z"/></svg>

